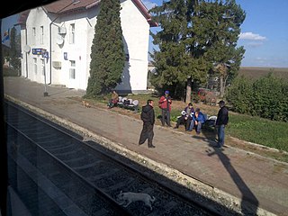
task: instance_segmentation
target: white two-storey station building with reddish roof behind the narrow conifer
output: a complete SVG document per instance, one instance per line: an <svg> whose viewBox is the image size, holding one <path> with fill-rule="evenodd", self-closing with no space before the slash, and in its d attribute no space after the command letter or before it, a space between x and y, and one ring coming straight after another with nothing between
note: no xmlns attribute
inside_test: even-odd
<svg viewBox="0 0 288 216"><path fill-rule="evenodd" d="M19 18L22 76L47 85L86 89L90 54L101 0L60 0L23 12ZM121 28L126 64L122 93L147 90L149 28L147 8L140 0L121 0Z"/></svg>

